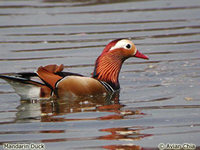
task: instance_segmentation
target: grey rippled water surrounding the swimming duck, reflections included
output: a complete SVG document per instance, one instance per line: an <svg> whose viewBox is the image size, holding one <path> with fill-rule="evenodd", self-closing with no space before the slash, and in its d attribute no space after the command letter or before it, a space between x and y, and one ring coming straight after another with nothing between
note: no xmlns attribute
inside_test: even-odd
<svg viewBox="0 0 200 150"><path fill-rule="evenodd" d="M20 100L0 80L1 148L200 146L199 14L199 0L1 0L0 73L65 64L90 76L104 46L124 37L150 57L125 62L111 100Z"/></svg>

